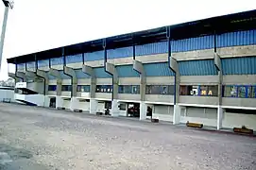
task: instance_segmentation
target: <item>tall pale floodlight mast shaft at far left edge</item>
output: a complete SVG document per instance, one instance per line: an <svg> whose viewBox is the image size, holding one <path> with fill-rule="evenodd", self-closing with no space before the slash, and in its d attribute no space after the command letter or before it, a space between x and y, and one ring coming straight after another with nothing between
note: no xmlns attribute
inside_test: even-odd
<svg viewBox="0 0 256 170"><path fill-rule="evenodd" d="M3 26L2 26L1 42L0 42L0 72L1 72L1 65L2 65L2 58L3 58L3 51L4 51L4 43L5 43L7 23L8 23L8 14L9 14L9 7L6 7L5 8L5 14L4 14Z"/></svg>

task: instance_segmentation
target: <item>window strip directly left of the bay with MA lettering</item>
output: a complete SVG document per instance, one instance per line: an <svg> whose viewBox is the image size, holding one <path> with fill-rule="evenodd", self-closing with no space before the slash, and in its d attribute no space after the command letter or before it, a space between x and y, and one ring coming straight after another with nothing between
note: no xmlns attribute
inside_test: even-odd
<svg viewBox="0 0 256 170"><path fill-rule="evenodd" d="M146 85L145 94L171 94L175 92L174 85Z"/></svg>

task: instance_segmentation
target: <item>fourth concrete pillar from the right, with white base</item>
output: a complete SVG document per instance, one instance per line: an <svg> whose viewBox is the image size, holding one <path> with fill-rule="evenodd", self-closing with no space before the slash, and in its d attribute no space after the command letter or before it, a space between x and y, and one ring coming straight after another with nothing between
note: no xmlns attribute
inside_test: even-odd
<svg viewBox="0 0 256 170"><path fill-rule="evenodd" d="M118 108L118 74L115 69L115 66L109 62L106 62L106 72L112 75L112 101L111 101L111 116L118 116L119 115L119 108Z"/></svg>

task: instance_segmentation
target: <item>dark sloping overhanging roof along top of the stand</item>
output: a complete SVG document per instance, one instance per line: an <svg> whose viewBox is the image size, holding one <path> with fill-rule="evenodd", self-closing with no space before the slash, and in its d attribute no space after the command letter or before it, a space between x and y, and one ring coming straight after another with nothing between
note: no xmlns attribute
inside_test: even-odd
<svg viewBox="0 0 256 170"><path fill-rule="evenodd" d="M213 33L221 34L225 32L254 29L256 28L256 9L174 26L162 26L90 42L80 42L77 44L71 44L37 53L9 58L8 62L22 63L33 61L35 59L35 55L37 56L37 59L59 58L62 56L63 48L65 56L100 51L103 49L102 44L105 40L107 42L107 49L127 47L133 44L138 45L150 42L164 42L166 41L166 27L170 28L171 40L187 39L211 35Z"/></svg>

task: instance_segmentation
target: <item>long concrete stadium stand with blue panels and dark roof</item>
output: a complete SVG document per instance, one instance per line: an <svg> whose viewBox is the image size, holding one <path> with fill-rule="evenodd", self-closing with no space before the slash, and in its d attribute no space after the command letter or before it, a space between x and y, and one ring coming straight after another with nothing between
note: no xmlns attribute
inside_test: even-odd
<svg viewBox="0 0 256 170"><path fill-rule="evenodd" d="M256 10L8 59L30 105L256 130Z"/></svg>

